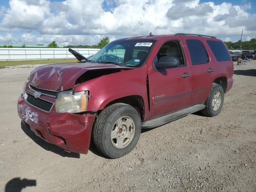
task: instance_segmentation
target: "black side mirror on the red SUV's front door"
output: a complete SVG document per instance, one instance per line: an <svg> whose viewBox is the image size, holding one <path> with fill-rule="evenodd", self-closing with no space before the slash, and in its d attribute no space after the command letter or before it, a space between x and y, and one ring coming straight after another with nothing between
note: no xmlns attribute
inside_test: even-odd
<svg viewBox="0 0 256 192"><path fill-rule="evenodd" d="M180 61L178 57L175 56L163 56L159 61L155 62L155 67L160 68L173 68L179 66Z"/></svg>

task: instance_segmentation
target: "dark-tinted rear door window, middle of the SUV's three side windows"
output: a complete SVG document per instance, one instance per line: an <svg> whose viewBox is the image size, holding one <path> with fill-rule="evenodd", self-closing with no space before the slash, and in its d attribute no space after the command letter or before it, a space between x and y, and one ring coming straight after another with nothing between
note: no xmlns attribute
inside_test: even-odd
<svg viewBox="0 0 256 192"><path fill-rule="evenodd" d="M208 54L202 42L200 42L199 40L188 39L186 40L186 43L188 45L192 65L208 63Z"/></svg>

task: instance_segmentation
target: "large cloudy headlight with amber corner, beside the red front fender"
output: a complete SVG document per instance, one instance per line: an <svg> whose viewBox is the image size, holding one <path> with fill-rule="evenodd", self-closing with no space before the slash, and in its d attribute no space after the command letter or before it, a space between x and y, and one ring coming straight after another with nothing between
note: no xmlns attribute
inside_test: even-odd
<svg viewBox="0 0 256 192"><path fill-rule="evenodd" d="M73 92L62 91L58 93L55 102L57 113L79 113L86 111L88 103L88 91Z"/></svg>

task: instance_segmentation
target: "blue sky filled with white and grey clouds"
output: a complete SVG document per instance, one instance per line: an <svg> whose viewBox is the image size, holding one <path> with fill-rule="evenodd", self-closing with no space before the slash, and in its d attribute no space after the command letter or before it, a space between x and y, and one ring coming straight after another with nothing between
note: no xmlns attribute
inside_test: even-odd
<svg viewBox="0 0 256 192"><path fill-rule="evenodd" d="M256 38L256 0L0 0L0 44L98 44L194 33Z"/></svg>

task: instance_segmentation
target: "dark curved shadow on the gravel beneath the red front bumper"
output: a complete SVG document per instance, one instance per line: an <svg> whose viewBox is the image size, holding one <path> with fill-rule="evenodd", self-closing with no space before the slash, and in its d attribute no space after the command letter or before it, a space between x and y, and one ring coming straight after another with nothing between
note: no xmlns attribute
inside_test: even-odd
<svg viewBox="0 0 256 192"><path fill-rule="evenodd" d="M36 134L34 134L34 132L24 124L24 122L21 121L20 126L28 137L30 137L36 144L38 144L40 147L44 148L45 150L54 152L62 157L80 158L79 153L74 153L74 152L68 153L64 151L62 148L54 144L50 144L44 141L43 139L41 139L40 137L36 136Z"/></svg>

